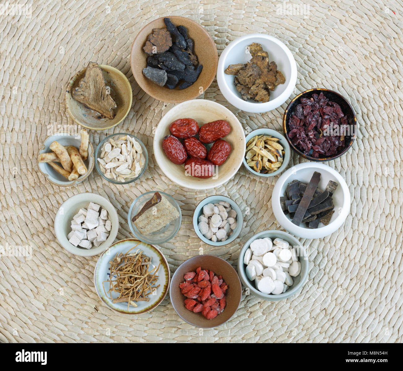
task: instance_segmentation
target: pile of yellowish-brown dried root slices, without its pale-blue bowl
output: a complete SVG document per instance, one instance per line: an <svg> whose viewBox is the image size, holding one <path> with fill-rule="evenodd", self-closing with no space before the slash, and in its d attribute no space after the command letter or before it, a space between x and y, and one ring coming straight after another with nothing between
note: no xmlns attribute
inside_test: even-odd
<svg viewBox="0 0 403 371"><path fill-rule="evenodd" d="M283 165L284 148L279 138L256 135L246 144L245 159L249 167L257 173L268 174Z"/></svg>

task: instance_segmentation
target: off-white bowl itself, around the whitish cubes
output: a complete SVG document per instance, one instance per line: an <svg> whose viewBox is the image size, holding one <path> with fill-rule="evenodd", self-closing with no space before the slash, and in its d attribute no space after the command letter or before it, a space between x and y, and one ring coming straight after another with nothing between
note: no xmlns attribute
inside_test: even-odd
<svg viewBox="0 0 403 371"><path fill-rule="evenodd" d="M94 202L108 211L108 218L112 223L112 229L105 242L101 243L98 247L93 246L91 249L85 249L84 247L72 245L67 239L67 235L71 231L71 221L73 216L75 216L81 208L87 208L90 202ZM56 213L56 217L54 218L54 231L60 245L67 251L79 256L93 256L100 254L112 245L118 234L118 229L119 219L116 209L106 198L95 193L80 193L71 196L68 200L62 203Z"/></svg>

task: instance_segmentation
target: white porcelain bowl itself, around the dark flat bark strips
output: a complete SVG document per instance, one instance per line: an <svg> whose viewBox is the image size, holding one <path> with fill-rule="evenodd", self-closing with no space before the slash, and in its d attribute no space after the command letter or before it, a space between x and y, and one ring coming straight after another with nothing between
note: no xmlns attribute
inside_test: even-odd
<svg viewBox="0 0 403 371"><path fill-rule="evenodd" d="M334 213L330 219L330 223L328 225L319 223L318 228L311 229L306 227L305 223L301 223L299 226L291 223L290 216L288 214L285 215L283 210L281 210L280 197L284 196L287 184L294 179L309 183L314 171L320 173L318 186L320 190L323 191L326 188L329 180L337 182L339 186L332 196ZM322 238L337 231L343 225L350 212L350 204L350 191L343 177L328 165L315 162L301 163L288 169L278 178L272 193L272 209L278 223L293 235L302 238Z"/></svg>

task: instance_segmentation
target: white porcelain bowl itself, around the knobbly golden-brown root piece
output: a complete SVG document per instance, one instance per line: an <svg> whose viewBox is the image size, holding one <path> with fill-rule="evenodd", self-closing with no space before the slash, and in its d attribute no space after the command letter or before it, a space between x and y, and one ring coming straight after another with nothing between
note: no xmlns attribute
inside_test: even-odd
<svg viewBox="0 0 403 371"><path fill-rule="evenodd" d="M247 47L251 43L262 45L263 50L269 54L270 62L276 62L277 69L285 77L283 85L278 85L274 91L270 91L270 101L266 103L254 102L251 99L249 101L241 99L241 95L235 89L235 76L224 73L230 64L249 62L252 56L247 52ZM297 82L297 64L293 54L280 40L264 33L250 33L229 43L221 53L218 60L217 82L222 95L233 106L247 112L267 112L282 105L293 93Z"/></svg>

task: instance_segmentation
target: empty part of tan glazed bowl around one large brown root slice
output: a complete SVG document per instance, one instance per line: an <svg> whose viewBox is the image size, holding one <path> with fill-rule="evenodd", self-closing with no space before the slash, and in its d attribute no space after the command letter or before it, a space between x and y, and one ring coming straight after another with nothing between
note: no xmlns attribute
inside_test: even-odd
<svg viewBox="0 0 403 371"><path fill-rule="evenodd" d="M115 113L113 119L101 116L100 113L76 101L71 94L73 89L78 87L81 78L84 77L87 67L71 78L65 93L66 109L69 115L77 124L93 130L105 130L120 124L129 113L133 101L133 93L127 77L114 67L100 64L100 68L106 81L106 86L110 87L110 95L116 103L116 108L113 110Z"/></svg>

